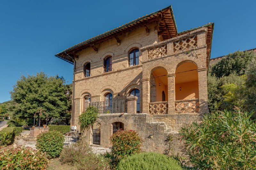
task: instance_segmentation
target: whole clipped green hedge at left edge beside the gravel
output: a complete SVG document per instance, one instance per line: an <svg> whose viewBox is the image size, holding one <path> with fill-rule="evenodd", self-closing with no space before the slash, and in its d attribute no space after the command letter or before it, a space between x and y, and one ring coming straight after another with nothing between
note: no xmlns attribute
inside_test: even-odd
<svg viewBox="0 0 256 170"><path fill-rule="evenodd" d="M6 127L0 131L0 145L8 145L13 142L15 136L20 135L22 127Z"/></svg>

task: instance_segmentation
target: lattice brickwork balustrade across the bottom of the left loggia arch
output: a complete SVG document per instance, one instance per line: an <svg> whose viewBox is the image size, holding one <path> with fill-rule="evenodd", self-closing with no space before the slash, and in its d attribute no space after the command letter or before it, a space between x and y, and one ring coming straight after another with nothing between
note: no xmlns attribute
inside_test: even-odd
<svg viewBox="0 0 256 170"><path fill-rule="evenodd" d="M153 102L148 106L150 115L168 114L168 102Z"/></svg>

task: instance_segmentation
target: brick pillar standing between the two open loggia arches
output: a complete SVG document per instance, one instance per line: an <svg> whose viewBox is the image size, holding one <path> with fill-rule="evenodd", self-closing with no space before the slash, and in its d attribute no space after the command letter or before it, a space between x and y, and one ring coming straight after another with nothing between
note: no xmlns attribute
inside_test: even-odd
<svg viewBox="0 0 256 170"><path fill-rule="evenodd" d="M175 113L175 74L167 75L168 79L168 114Z"/></svg>

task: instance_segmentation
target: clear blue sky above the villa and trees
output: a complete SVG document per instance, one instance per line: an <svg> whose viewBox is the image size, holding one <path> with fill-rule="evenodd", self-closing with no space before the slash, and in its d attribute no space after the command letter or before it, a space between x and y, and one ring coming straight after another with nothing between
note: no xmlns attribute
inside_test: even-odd
<svg viewBox="0 0 256 170"><path fill-rule="evenodd" d="M215 23L211 58L256 48L255 0L1 0L0 103L21 74L43 71L71 83L73 65L54 54L170 4L179 32Z"/></svg>

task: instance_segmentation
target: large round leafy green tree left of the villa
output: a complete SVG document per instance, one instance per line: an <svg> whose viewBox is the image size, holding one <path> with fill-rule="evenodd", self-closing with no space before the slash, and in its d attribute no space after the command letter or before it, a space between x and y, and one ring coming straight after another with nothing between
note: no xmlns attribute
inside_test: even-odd
<svg viewBox="0 0 256 170"><path fill-rule="evenodd" d="M69 99L66 96L67 87L63 77L47 77L44 73L21 76L14 86L11 97L17 103L14 117L28 121L40 108L51 118L66 117L69 109ZM41 119L45 119L43 114Z"/></svg>

